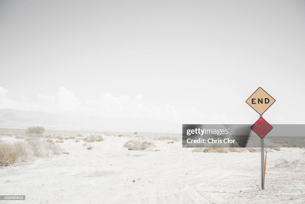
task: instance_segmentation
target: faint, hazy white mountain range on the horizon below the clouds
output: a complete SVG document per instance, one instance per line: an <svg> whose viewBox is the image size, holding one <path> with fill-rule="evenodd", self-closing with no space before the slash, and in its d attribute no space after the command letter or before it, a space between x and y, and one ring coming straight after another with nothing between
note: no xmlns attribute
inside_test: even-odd
<svg viewBox="0 0 305 204"><path fill-rule="evenodd" d="M43 126L55 130L94 130L125 132L181 133L182 124L151 119L105 118L97 116L64 115L46 112L0 109L0 128L25 129Z"/></svg>

